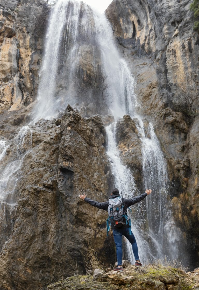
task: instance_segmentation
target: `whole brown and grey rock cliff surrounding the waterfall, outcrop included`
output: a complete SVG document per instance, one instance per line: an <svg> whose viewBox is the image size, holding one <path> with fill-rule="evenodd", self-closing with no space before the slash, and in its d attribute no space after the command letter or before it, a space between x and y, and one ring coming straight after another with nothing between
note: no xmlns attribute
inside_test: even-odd
<svg viewBox="0 0 199 290"><path fill-rule="evenodd" d="M5 168L19 154L14 138L29 121L37 95L49 13L42 0L0 1L0 135L10 145ZM189 1L113 0L106 15L135 75L140 112L153 123L167 159L173 213L197 262L199 50ZM87 47L80 59L87 71L89 55ZM82 104L80 113L68 107L59 119L38 121L21 143L14 192L8 184L10 193L1 203L0 289L45 289L61 276L84 271L86 239L100 256L114 258L106 214L78 197L81 192L100 201L108 197L113 177L104 126L113 116L94 115L93 104ZM127 115L120 119L116 139L123 164L141 187L135 122Z"/></svg>

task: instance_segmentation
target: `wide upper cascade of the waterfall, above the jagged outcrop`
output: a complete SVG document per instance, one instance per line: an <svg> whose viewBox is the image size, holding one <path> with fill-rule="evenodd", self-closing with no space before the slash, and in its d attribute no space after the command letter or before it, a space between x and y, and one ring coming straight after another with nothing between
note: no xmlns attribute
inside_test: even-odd
<svg viewBox="0 0 199 290"><path fill-rule="evenodd" d="M90 81L97 75L104 81L104 87L107 85L106 92L100 97L107 101L106 105L116 118L122 117L127 109L123 110L124 102L129 108L136 106L131 104L135 98L128 96L133 91L134 82L126 79L131 76L126 71L129 68L117 51L105 15L97 14L82 2L58 0L46 34L34 122L39 118L56 117L68 104L76 107L77 102L93 102L97 107L99 96L93 99L93 90L85 87L82 92L80 88L85 80ZM127 84L130 90L125 92ZM100 88L101 93L104 87Z"/></svg>

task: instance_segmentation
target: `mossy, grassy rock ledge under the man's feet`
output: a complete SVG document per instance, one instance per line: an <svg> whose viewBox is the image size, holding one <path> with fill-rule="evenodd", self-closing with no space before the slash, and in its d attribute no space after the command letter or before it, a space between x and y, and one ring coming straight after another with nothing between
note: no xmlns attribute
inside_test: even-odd
<svg viewBox="0 0 199 290"><path fill-rule="evenodd" d="M96 269L91 275L75 275L50 284L55 290L199 290L199 268L185 273L175 265L152 264L144 267L127 266L123 272Z"/></svg>

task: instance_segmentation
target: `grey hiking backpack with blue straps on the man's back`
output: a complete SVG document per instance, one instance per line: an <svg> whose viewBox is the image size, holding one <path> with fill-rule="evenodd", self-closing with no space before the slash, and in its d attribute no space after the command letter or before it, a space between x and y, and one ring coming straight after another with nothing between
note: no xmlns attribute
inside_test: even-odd
<svg viewBox="0 0 199 290"><path fill-rule="evenodd" d="M122 193L121 193L122 195ZM108 218L106 220L107 236L110 230L110 226L114 229L121 228L124 224L128 224L129 221L129 234L131 235L131 220L129 215L124 214L123 197L117 196L110 198L108 201Z"/></svg>

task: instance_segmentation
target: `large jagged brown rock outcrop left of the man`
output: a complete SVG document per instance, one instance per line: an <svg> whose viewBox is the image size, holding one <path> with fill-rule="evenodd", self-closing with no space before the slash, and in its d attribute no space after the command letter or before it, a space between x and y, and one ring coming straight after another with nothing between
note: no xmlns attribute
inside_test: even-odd
<svg viewBox="0 0 199 290"><path fill-rule="evenodd" d="M30 130L26 138L31 136L32 146L23 155L15 186L14 225L1 244L3 289L44 289L61 275L84 270L86 240L101 257L113 251L106 213L91 211L79 198L80 193L102 201L108 197L111 173L100 116L84 119L68 107L61 119L41 119ZM4 166L12 154L16 147L10 140Z"/></svg>

